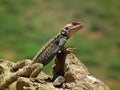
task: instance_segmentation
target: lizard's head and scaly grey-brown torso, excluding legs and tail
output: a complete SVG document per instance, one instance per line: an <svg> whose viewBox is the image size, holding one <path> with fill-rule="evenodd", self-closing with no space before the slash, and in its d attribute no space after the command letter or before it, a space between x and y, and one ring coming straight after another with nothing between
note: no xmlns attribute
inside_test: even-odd
<svg viewBox="0 0 120 90"><path fill-rule="evenodd" d="M61 32L49 40L38 52L33 58L33 63L41 63L43 66L47 65L56 53L64 47L67 40L82 27L83 24L81 22L73 22L65 25L61 29Z"/></svg>

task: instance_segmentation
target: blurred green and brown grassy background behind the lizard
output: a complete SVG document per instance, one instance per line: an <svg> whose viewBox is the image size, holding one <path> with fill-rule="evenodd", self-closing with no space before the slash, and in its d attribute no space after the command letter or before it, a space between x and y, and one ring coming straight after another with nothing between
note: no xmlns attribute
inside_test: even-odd
<svg viewBox="0 0 120 90"><path fill-rule="evenodd" d="M84 28L66 47L96 78L120 89L119 0L0 0L0 58L32 59L60 28L81 21ZM51 75L51 64L44 72Z"/></svg>

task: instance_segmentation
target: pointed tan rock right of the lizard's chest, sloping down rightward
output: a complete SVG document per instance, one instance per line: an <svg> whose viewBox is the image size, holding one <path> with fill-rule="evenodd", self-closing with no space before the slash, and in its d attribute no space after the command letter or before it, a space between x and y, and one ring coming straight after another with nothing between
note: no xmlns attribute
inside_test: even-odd
<svg viewBox="0 0 120 90"><path fill-rule="evenodd" d="M70 90L110 90L101 80L88 72L83 63L72 53L67 54L64 67L66 83L64 88Z"/></svg>

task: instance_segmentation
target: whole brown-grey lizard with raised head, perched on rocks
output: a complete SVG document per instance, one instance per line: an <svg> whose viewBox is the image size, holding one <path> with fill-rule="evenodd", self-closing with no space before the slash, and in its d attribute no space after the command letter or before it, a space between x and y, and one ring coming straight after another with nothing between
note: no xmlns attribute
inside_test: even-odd
<svg viewBox="0 0 120 90"><path fill-rule="evenodd" d="M64 48L65 43L67 40L77 31L79 31L83 27L82 22L72 22L67 25L65 25L63 28L61 28L60 33L58 33L55 37L50 39L43 47L42 49L36 54L36 56L33 58L31 64L21 67L22 63L15 65L12 69L19 69L17 72L15 72L12 76L10 76L1 86L0 89L4 90L7 86L9 86L11 83L17 80L19 76L30 76L30 77L36 77L42 68L46 66L57 54L58 51L60 51L62 48Z"/></svg>

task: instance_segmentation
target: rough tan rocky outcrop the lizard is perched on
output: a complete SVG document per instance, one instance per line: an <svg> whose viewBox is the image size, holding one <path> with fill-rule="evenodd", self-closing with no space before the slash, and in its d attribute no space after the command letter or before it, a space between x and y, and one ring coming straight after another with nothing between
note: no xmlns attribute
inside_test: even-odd
<svg viewBox="0 0 120 90"><path fill-rule="evenodd" d="M10 68L15 63L7 60L0 60L0 85L13 75ZM53 86L53 82L49 81L48 75L41 72L36 79L29 77L18 77L5 90L110 90L101 80L93 77L83 63L72 53L67 54L64 66L65 82L61 87Z"/></svg>

